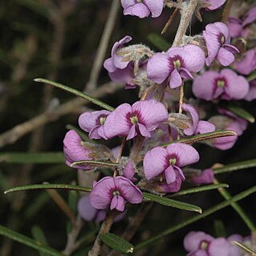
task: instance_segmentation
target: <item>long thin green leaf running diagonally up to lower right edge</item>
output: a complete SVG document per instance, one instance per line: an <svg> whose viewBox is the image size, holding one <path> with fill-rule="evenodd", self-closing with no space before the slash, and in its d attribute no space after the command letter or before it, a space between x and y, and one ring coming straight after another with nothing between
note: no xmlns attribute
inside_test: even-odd
<svg viewBox="0 0 256 256"><path fill-rule="evenodd" d="M169 234L171 234L171 233L173 233L177 230L181 230L185 226L188 226L189 224L192 224L195 221L199 221L202 218L207 217L212 213L216 213L218 210L223 209L226 206L231 205L234 201L240 201L240 200L250 196L252 193L255 193L255 192L256 192L256 185L254 187L251 187L250 189L246 189L242 193L238 193L236 196L232 197L228 201L222 201L220 204L214 205L213 207L204 210L204 212L201 213L200 215L189 217L189 218L181 221L177 225L172 226L169 229L162 231L160 234L156 234L152 238L149 238L148 240L146 240L144 242L141 242L140 244L135 246L134 250L140 250L141 248L143 248L145 246L151 245L152 243L160 240L161 238L164 238L165 236L167 236L167 235L169 235Z"/></svg>

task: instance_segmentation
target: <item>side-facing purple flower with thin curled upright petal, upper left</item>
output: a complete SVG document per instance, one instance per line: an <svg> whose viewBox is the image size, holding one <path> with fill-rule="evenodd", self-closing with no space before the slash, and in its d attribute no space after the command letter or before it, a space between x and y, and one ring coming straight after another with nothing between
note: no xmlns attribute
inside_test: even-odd
<svg viewBox="0 0 256 256"><path fill-rule="evenodd" d="M107 69L108 72L113 73L117 69L124 69L128 66L128 61L124 61L122 56L117 55L118 49L124 47L124 43L128 43L132 40L132 37L126 35L123 39L116 42L112 47L112 56L109 59L104 61L104 67Z"/></svg>

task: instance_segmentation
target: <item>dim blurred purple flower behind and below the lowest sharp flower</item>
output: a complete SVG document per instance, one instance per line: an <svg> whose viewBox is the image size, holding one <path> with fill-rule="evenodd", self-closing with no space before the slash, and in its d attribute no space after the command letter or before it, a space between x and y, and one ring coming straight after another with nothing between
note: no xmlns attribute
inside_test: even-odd
<svg viewBox="0 0 256 256"><path fill-rule="evenodd" d="M83 218L85 221L104 221L106 217L106 211L104 209L95 209L91 206L90 203L90 195L81 197L77 204L77 209L79 212L79 216ZM126 212L120 213L115 217L114 221L120 221L125 217Z"/></svg>

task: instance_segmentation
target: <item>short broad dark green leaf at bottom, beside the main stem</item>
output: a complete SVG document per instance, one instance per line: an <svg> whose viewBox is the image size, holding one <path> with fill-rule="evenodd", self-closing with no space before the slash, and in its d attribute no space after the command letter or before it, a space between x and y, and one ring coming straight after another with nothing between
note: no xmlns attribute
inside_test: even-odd
<svg viewBox="0 0 256 256"><path fill-rule="evenodd" d="M104 242L104 244L108 245L114 250L118 250L123 254L128 254L133 252L133 246L131 243L124 240L120 236L112 233L101 234L100 240Z"/></svg>

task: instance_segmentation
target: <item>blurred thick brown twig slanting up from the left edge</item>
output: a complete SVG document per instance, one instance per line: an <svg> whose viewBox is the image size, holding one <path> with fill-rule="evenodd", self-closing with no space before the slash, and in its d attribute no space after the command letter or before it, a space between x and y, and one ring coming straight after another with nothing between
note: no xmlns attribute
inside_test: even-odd
<svg viewBox="0 0 256 256"><path fill-rule="evenodd" d="M121 87L124 87L123 83L105 83L99 87L99 89L92 92L91 96L101 98L108 93L114 93ZM35 116L22 124L18 124L14 128L11 128L9 131L3 132L0 135L0 148L4 147L6 144L13 144L27 133L34 131L36 128L39 128L44 124L58 120L61 116L65 116L71 112L77 112L77 109L82 107L84 104L88 104L88 102L81 99L69 100L67 103L61 104L58 108L51 110L51 112L43 112L43 114L39 116Z"/></svg>

